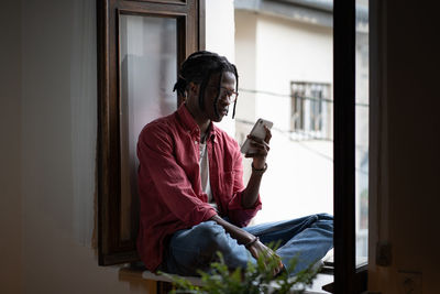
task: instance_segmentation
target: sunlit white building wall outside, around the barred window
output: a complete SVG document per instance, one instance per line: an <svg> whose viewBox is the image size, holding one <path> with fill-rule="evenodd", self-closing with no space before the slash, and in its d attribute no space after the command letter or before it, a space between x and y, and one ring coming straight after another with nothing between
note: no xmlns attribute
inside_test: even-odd
<svg viewBox="0 0 440 294"><path fill-rule="evenodd" d="M239 119L274 122L268 170L260 189L263 209L255 222L332 214L332 143L292 142L286 133L290 128L290 81L332 84L331 29L239 10L235 52L240 88L284 95L244 91L239 98ZM237 131L240 135L249 129ZM250 160L244 161L244 168L249 176Z"/></svg>

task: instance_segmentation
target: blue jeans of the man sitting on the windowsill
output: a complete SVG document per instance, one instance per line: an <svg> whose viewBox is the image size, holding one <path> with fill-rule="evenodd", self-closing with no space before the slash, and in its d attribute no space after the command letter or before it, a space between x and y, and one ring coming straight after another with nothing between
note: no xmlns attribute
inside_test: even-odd
<svg viewBox="0 0 440 294"><path fill-rule="evenodd" d="M327 214L311 215L293 220L283 220L243 228L257 236L267 244L280 241L276 253L288 266L293 258L298 262L288 269L290 275L322 259L333 247L333 217ZM223 254L229 268L248 266L255 259L231 238L216 221L204 221L190 229L176 231L165 250L161 270L179 275L197 275L197 270L209 271L217 259L217 251Z"/></svg>

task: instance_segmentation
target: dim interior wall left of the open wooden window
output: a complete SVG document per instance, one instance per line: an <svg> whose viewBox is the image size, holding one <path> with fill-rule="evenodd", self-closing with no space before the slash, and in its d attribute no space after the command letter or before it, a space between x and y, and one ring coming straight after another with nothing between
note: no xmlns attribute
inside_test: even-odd
<svg viewBox="0 0 440 294"><path fill-rule="evenodd" d="M84 213L95 192L95 2L2 1L2 294L145 293L98 265Z"/></svg>

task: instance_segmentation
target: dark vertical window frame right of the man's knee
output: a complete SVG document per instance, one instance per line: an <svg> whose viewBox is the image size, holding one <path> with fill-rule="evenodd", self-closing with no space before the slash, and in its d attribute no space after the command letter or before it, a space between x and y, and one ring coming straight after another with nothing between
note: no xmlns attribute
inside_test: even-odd
<svg viewBox="0 0 440 294"><path fill-rule="evenodd" d="M333 2L333 214L332 293L367 288L366 265L355 264L355 0Z"/></svg>

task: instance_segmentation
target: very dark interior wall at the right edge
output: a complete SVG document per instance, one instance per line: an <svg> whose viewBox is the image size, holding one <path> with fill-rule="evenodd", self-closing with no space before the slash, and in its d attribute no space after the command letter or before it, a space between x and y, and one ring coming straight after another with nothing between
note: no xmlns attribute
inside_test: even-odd
<svg viewBox="0 0 440 294"><path fill-rule="evenodd" d="M418 272L422 293L439 293L439 15L428 3L386 1L384 8L389 194L378 226L388 226L393 258L370 273L370 290L404 293L402 272Z"/></svg>

